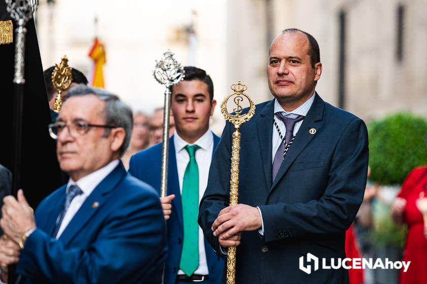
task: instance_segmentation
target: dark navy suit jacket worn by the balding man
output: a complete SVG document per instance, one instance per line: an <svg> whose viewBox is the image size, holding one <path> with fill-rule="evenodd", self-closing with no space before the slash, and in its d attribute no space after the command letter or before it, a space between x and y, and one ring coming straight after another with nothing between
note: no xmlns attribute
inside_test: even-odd
<svg viewBox="0 0 427 284"><path fill-rule="evenodd" d="M317 94L272 182L274 100L256 106L240 126L239 203L259 206L264 234L242 232L236 252L236 284L346 283L345 269L299 270L299 258L344 258L345 231L363 199L368 168L368 134L354 115ZM310 132L316 133L311 134ZM229 203L231 141L227 123L210 165L199 224L219 252L211 231ZM313 263L305 263L312 265ZM321 266L321 263L320 263Z"/></svg>

